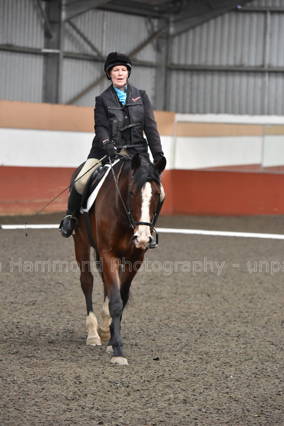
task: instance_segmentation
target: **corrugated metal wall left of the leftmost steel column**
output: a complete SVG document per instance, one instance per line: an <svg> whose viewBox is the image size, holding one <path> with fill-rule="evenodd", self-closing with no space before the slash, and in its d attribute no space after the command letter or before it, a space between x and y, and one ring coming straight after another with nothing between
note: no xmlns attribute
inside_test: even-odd
<svg viewBox="0 0 284 426"><path fill-rule="evenodd" d="M1 0L0 44L44 47L44 22L35 2ZM0 99L42 102L43 55L0 51Z"/></svg>

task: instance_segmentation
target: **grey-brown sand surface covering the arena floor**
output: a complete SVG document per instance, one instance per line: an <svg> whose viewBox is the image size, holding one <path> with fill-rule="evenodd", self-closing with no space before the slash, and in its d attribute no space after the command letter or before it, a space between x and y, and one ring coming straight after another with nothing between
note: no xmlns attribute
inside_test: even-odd
<svg viewBox="0 0 284 426"><path fill-rule="evenodd" d="M158 226L282 234L284 218L161 217ZM161 233L131 287L129 366L120 367L107 342L85 344L72 238L0 234L2 426L284 424L284 240ZM93 301L99 318L97 273Z"/></svg>

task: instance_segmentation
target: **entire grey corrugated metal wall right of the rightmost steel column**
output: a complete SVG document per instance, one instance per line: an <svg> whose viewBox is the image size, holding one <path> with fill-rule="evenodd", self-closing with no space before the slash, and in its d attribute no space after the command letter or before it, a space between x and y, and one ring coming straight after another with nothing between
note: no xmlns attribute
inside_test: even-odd
<svg viewBox="0 0 284 426"><path fill-rule="evenodd" d="M284 1L245 6L284 7ZM168 109L283 115L284 69L269 70L284 66L283 40L284 13L266 11L230 12L177 35L171 44Z"/></svg>

